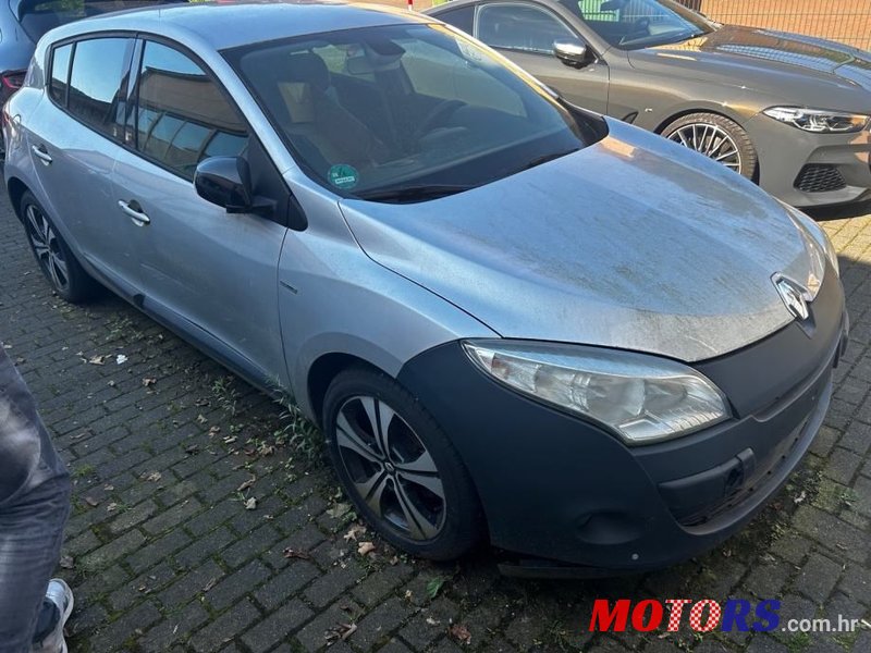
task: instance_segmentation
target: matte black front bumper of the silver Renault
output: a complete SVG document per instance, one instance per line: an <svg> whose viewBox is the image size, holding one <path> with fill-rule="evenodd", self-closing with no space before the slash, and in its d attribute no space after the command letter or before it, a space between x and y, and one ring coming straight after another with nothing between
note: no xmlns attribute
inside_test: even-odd
<svg viewBox="0 0 871 653"><path fill-rule="evenodd" d="M538 560L533 575L560 575L556 564L585 575L657 568L735 532L807 452L846 341L834 271L811 311L802 324L695 366L729 398L732 419L647 446L627 447L518 395L475 368L456 342L414 358L398 380L451 435L494 546Z"/></svg>

